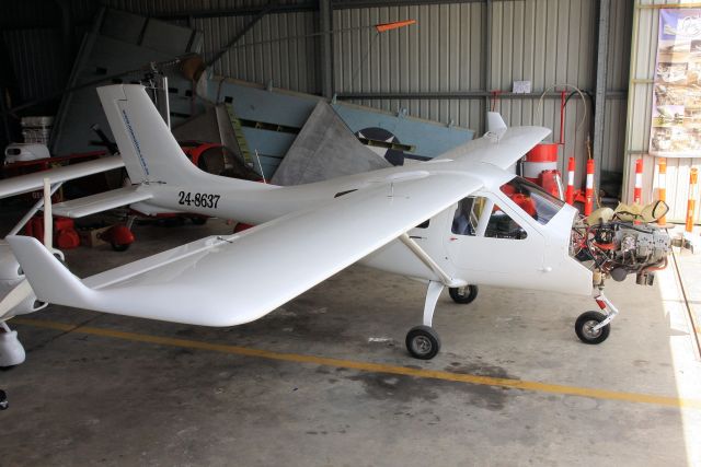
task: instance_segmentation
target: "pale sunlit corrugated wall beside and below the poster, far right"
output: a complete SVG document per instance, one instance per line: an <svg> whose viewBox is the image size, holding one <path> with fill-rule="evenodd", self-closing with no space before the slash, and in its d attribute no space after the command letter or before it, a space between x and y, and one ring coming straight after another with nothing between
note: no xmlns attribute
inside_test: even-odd
<svg viewBox="0 0 701 467"><path fill-rule="evenodd" d="M657 197L656 157L647 154L650 149L650 128L653 109L653 79L657 56L657 31L659 8L665 4L685 3L678 0L641 0L635 4L633 14L634 36L630 62L630 96L628 107L628 128L625 139L625 197L633 199L635 161L643 159L643 197L645 200ZM667 220L683 222L687 212L689 192L689 173L692 167L701 170L701 159L667 159L667 202L670 212ZM697 199L699 206L699 199ZM696 223L701 223L701 210L697 209Z"/></svg>

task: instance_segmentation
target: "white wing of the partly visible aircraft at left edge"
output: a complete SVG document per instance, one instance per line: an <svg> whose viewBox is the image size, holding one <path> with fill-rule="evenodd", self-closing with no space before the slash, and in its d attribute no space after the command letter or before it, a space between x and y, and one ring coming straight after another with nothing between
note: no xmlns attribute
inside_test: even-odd
<svg viewBox="0 0 701 467"><path fill-rule="evenodd" d="M118 155L110 155L95 161L81 162L80 164L66 165L49 171L20 175L0 182L0 198L39 189L44 186L44 178L49 178L51 184L57 184L119 167L124 167L122 157Z"/></svg>

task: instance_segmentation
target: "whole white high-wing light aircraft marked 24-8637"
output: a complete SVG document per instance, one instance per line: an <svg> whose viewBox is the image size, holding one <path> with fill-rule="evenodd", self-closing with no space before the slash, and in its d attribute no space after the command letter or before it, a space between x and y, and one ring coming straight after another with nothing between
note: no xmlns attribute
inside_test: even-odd
<svg viewBox="0 0 701 467"><path fill-rule="evenodd" d="M80 217L131 203L145 213L193 212L256 226L84 279L35 238L8 236L42 302L234 326L359 261L427 284L423 324L407 332L406 348L415 358L432 359L440 347L434 310L445 288L456 302L469 303L475 284L588 295L594 283L602 313L584 313L575 328L583 341L598 343L618 313L601 291L602 277L616 270L618 278L636 272L646 279L665 253L664 238L645 244L652 252L646 256L640 252L648 237L658 238L646 226L573 229L579 222L573 207L508 172L550 130L507 129L498 114L489 115L482 138L432 161L279 187L195 167L142 86L97 92L133 185L55 205L55 213ZM595 248L609 236L613 246ZM632 244L623 242L629 237ZM0 320L11 316L12 311L0 312Z"/></svg>

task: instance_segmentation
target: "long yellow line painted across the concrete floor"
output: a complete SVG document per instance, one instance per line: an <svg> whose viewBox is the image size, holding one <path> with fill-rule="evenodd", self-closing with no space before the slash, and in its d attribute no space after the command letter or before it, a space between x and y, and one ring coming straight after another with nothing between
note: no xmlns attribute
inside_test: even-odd
<svg viewBox="0 0 701 467"><path fill-rule="evenodd" d="M536 393L550 393L568 396L591 397L595 399L621 400L625 402L651 404L656 406L701 409L701 400L682 399L677 397L655 396L650 394L623 393L617 390L596 389L588 387L566 386L561 384L548 384L533 381L521 381L503 377L480 376L473 374L451 373L439 370L411 369L406 366L387 365L381 363L359 362L353 360L329 359L324 357L303 355L298 353L281 353L268 350L251 349L248 347L229 346L225 343L202 342L197 340L175 339L171 337L151 336L137 332L125 332L114 329L96 328L48 322L42 319L14 318L14 324L33 326L61 331L85 334L91 336L110 337L114 339L130 340L136 342L157 343L160 346L179 347L186 349L208 350L219 353L256 357L268 360L281 360L296 363L311 363L323 366L358 370L363 372L386 373L393 375L414 376L430 380L451 381L456 383L497 386L505 388L530 390Z"/></svg>

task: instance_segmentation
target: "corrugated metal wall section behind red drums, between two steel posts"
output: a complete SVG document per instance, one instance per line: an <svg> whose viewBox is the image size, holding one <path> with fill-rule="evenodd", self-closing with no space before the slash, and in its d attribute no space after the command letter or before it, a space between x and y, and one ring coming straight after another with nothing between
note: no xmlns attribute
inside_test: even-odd
<svg viewBox="0 0 701 467"><path fill-rule="evenodd" d="M530 80L533 92L554 84L593 90L596 57L595 1L496 2L492 14L490 89L510 90L515 80ZM590 102L573 97L565 114L565 150L576 155L577 183L585 172L586 136L590 125ZM507 101L501 106L509 125L543 125L560 138L560 101Z"/></svg>

